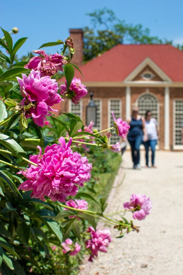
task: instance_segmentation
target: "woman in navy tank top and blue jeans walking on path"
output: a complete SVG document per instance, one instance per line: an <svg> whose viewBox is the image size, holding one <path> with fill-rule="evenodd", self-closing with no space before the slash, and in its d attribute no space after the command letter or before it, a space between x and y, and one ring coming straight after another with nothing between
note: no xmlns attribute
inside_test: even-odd
<svg viewBox="0 0 183 275"><path fill-rule="evenodd" d="M127 120L130 130L127 135L128 142L131 146L131 156L134 163L134 169L141 169L140 166L140 145L142 140L147 140L145 130L145 119L138 114L138 107L133 108L131 117ZM144 136L144 137L143 137Z"/></svg>

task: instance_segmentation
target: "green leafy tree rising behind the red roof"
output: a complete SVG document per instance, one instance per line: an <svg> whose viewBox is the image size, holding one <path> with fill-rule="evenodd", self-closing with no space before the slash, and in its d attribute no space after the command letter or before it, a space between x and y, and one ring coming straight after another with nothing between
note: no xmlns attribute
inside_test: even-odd
<svg viewBox="0 0 183 275"><path fill-rule="evenodd" d="M104 53L113 46L129 42L132 44L160 44L157 36L150 36L150 30L141 24L126 24L110 9L103 8L88 13L93 28L84 28L84 61Z"/></svg>

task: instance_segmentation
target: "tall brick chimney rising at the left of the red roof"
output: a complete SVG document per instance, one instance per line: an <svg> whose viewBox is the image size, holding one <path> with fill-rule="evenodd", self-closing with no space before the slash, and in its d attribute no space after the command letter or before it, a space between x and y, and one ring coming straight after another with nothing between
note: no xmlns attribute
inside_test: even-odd
<svg viewBox="0 0 183 275"><path fill-rule="evenodd" d="M70 29L70 37L73 39L74 49L72 63L80 67L83 63L83 30L82 29Z"/></svg>

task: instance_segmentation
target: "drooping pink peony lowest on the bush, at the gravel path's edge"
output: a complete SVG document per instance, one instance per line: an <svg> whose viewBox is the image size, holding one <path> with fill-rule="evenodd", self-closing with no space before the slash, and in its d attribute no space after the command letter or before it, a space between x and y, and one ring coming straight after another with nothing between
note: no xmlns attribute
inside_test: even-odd
<svg viewBox="0 0 183 275"><path fill-rule="evenodd" d="M90 233L90 239L85 242L86 248L90 248L91 256L88 261L92 262L94 256L98 256L98 251L107 252L107 247L112 241L109 229L95 229L90 226L87 230Z"/></svg>

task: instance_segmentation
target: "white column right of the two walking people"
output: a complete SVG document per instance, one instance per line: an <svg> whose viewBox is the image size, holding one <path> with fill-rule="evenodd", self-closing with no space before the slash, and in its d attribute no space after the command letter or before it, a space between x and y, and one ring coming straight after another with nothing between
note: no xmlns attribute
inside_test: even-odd
<svg viewBox="0 0 183 275"><path fill-rule="evenodd" d="M164 150L170 150L170 90L165 87L165 132Z"/></svg>

